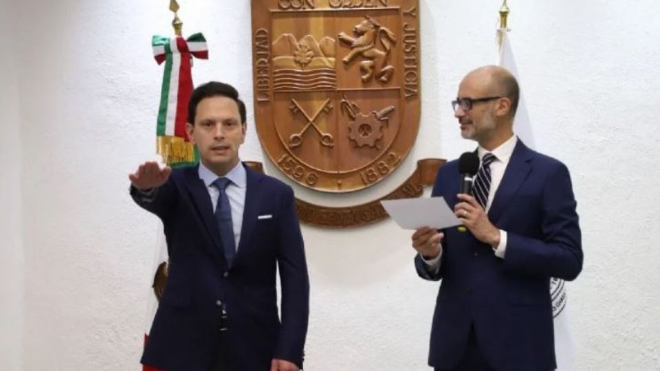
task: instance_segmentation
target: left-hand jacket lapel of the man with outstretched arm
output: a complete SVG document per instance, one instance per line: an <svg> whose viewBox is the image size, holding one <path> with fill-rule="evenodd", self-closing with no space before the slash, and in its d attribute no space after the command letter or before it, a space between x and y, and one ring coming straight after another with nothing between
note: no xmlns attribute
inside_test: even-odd
<svg viewBox="0 0 660 371"><path fill-rule="evenodd" d="M188 189L188 195L190 196L190 199L192 199L192 205L195 207L195 210L197 210L197 214L200 216L202 224L206 228L206 233L213 241L214 246L208 246L210 247L209 251L213 256L224 261L224 257L220 254L222 251L222 243L220 240L218 225L215 221L215 216L213 216L213 206L206 185L201 179L199 179L197 166L188 168L184 179L184 184Z"/></svg>

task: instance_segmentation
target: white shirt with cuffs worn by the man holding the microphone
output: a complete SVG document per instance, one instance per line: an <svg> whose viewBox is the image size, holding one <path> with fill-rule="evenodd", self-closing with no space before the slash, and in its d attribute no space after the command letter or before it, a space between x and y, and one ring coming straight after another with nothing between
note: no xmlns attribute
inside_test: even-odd
<svg viewBox="0 0 660 371"><path fill-rule="evenodd" d="M488 202L486 203L486 212L490 210L490 206L493 204L493 199L497 188L502 183L502 178L504 177L504 172L507 170L507 165L509 165L509 159L514 153L514 148L516 148L516 143L518 143L518 138L516 135L511 135L509 139L503 144L500 144L497 148L492 151L485 150L482 146L478 146L476 153L479 156L479 159L483 159L483 156L486 153L492 153L496 159L490 164L490 190L488 192ZM507 251L507 232L500 229L500 243L497 246L493 247L495 251L495 256L498 258L504 259L504 256ZM420 254L421 256L421 254ZM440 244L440 254L437 257L430 260L424 259L421 256L421 259L426 263L426 268L428 271L437 272L440 269L440 258L442 256L442 244Z"/></svg>

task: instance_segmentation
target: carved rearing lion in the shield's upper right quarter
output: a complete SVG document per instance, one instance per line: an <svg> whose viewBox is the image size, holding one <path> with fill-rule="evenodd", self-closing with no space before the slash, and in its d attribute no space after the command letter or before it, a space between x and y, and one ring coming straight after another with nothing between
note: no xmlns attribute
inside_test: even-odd
<svg viewBox="0 0 660 371"><path fill-rule="evenodd" d="M387 58L392 45L397 41L395 34L371 16L364 16L364 21L353 27L353 33L355 38L344 32L338 35L342 43L351 47L351 52L343 59L344 64L348 65L355 57L362 56L366 59L360 62L362 82L368 82L374 74L381 82L388 82L394 74L394 66L388 64ZM379 42L382 50L377 46Z"/></svg>

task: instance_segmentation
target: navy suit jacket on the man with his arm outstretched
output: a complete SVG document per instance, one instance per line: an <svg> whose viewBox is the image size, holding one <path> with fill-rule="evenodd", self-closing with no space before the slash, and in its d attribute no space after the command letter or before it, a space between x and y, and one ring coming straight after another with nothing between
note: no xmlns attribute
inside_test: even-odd
<svg viewBox="0 0 660 371"><path fill-rule="evenodd" d="M197 166L173 170L149 200L133 199L163 222L168 279L142 363L167 371L208 371L218 350L219 320L228 313L227 351L236 370L270 370L272 358L303 364L309 278L292 188L247 166L241 240L231 267L208 190ZM258 218L271 215L272 218ZM282 319L276 301L276 266Z"/></svg>

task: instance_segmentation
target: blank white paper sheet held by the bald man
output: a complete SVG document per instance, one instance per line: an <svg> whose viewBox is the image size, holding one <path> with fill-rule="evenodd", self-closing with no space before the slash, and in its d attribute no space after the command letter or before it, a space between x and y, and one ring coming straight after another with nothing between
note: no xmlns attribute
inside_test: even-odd
<svg viewBox="0 0 660 371"><path fill-rule="evenodd" d="M442 229L461 225L442 197L384 200L380 203L399 227L417 229L428 226Z"/></svg>

